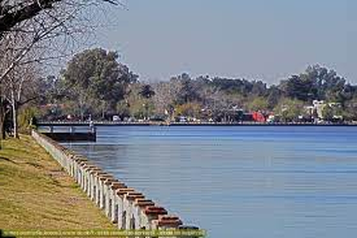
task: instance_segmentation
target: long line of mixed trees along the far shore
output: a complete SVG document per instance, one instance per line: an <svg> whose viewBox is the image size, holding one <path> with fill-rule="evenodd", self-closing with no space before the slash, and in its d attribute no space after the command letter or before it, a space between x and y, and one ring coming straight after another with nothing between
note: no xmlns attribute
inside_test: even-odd
<svg viewBox="0 0 357 238"><path fill-rule="evenodd" d="M147 84L117 59L116 52L88 49L75 55L60 75L42 78L44 97L37 101L38 116L234 121L242 119L237 116L242 112L260 112L266 117L274 114L280 121L357 119L357 86L319 65L271 86L261 80L192 78L187 73ZM322 112L311 107L314 100L323 101Z"/></svg>

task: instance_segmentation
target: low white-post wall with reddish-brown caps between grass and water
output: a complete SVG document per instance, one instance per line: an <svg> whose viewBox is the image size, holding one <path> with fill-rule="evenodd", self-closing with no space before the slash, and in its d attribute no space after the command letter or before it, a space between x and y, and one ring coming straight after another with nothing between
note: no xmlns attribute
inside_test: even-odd
<svg viewBox="0 0 357 238"><path fill-rule="evenodd" d="M169 215L134 188L33 130L32 137L62 166L118 229L186 229L178 216Z"/></svg>

